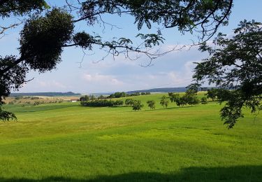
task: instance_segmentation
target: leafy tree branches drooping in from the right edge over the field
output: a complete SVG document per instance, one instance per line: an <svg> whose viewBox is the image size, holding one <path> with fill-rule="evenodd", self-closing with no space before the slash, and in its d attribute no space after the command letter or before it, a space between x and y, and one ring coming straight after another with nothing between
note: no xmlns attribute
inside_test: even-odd
<svg viewBox="0 0 262 182"><path fill-rule="evenodd" d="M243 117L243 107L252 113L262 109L262 25L254 20L240 22L232 38L219 34L214 45L216 49L201 46L210 57L197 64L193 78L195 85L208 80L224 90L219 97L226 105L220 113L231 128Z"/></svg>

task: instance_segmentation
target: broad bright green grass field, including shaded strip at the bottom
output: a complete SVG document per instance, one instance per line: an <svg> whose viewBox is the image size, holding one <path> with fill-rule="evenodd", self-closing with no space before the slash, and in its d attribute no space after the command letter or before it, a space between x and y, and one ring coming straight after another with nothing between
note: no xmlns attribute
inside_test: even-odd
<svg viewBox="0 0 262 182"><path fill-rule="evenodd" d="M0 181L262 181L262 116L245 111L233 130L221 106L88 108L79 103L6 105Z"/></svg>

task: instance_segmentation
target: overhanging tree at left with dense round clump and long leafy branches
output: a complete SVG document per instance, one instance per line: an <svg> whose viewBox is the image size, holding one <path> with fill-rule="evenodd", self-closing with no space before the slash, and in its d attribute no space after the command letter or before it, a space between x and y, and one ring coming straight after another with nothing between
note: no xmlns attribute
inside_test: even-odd
<svg viewBox="0 0 262 182"><path fill-rule="evenodd" d="M67 47L92 50L96 46L107 51L107 55L123 55L129 59L133 58L129 57L130 52L138 52L146 55L150 61L163 55L150 52L152 47L163 43L161 31L154 34L139 32L133 38L118 37L105 41L97 34L75 29L78 22L85 22L87 26L98 23L103 27L107 25L103 15L131 15L138 30L144 25L148 29L151 29L152 25L159 29L177 27L182 33L194 32L201 41L206 41L220 25L227 25L233 6L233 0L80 0L65 3L63 9L48 9L43 0L0 0L0 17L3 20L9 17L27 19L20 32L19 55L14 56L10 52L10 55L0 56L0 106L4 104L4 97L8 97L11 90L19 90L22 84L27 82L26 75L29 70L44 73L54 69L61 62L61 53ZM45 13L41 13L41 10L45 10ZM110 25L113 23L109 22ZM0 36L4 35L8 28L15 26L0 25ZM133 43L132 40L138 38L140 43ZM0 108L1 120L12 118L15 118L13 113Z"/></svg>

